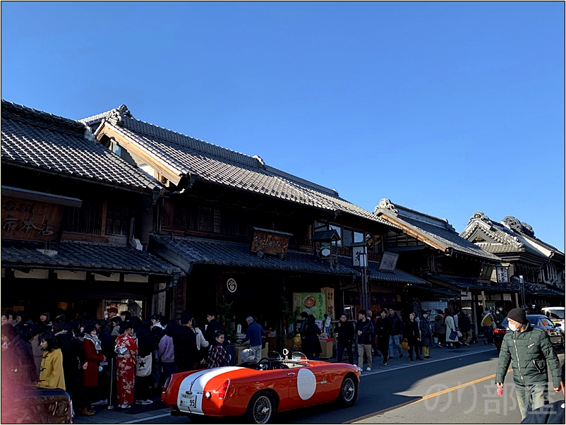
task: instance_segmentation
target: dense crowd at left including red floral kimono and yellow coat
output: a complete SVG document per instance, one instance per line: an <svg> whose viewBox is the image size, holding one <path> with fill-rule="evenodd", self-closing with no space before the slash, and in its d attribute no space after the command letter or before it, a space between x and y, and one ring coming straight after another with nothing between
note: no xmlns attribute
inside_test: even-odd
<svg viewBox="0 0 566 425"><path fill-rule="evenodd" d="M259 325L248 327L253 345L261 331ZM44 311L35 323L23 311L6 311L1 340L2 381L66 390L85 416L95 414L95 405L115 401L122 409L150 405L172 373L231 361L216 311L208 313L204 333L188 311L169 322L160 314L142 320L114 306L104 319L88 313L51 318Z"/></svg>

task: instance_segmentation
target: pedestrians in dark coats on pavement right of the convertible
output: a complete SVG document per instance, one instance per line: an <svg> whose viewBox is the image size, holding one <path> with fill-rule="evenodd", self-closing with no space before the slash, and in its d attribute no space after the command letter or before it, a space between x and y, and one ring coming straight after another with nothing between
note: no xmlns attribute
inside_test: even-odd
<svg viewBox="0 0 566 425"><path fill-rule="evenodd" d="M502 308L484 311L481 316L484 344L493 344L493 329L506 314ZM361 310L356 323L348 321L347 314L342 313L335 333L337 361L342 362L347 352L348 362L354 364L352 344L357 340L358 366L363 368L366 363L366 371L371 371L373 356L382 357L385 366L396 354L402 358L406 350L410 361L423 361L432 359L429 349L435 345L454 349L462 345L469 347L474 338L477 340L465 309L423 311L420 317L411 312L406 321L394 309L382 309L375 315L371 310Z"/></svg>

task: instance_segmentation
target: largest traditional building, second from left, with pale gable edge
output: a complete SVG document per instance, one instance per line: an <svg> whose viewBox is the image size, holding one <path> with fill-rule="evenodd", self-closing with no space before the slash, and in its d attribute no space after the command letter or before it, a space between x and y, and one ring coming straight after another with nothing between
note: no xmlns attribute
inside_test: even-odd
<svg viewBox="0 0 566 425"><path fill-rule="evenodd" d="M317 318L359 309L361 273L351 244L360 241L368 246L370 291L378 304L400 304L403 285L428 285L402 270L378 271L385 234L402 229L334 189L258 156L147 124L124 105L82 121L101 146L166 187L149 249L186 273L163 295L175 300L176 315L189 309L203 317L225 298L238 323L263 316L269 328L279 328L285 300Z"/></svg>

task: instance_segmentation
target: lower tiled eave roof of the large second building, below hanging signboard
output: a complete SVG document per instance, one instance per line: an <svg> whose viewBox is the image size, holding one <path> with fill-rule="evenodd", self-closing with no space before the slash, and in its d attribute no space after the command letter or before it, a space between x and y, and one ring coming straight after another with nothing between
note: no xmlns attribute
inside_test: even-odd
<svg viewBox="0 0 566 425"><path fill-rule="evenodd" d="M263 258L259 258L255 253L250 253L250 244L191 237L174 237L171 240L171 237L157 235L152 235L151 239L152 246L159 244L183 258L184 261L191 263L191 265L227 265L332 275L350 275L354 272L351 268L342 265L332 269L328 261L318 261L312 253L290 249L287 250L287 256L283 261L277 256L265 255Z"/></svg>

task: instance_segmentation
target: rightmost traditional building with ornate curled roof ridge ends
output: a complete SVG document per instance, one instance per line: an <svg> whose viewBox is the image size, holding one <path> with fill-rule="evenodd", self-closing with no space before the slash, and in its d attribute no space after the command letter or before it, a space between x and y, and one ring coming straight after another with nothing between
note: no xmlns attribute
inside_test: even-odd
<svg viewBox="0 0 566 425"><path fill-rule="evenodd" d="M565 255L531 226L512 216L495 222L478 211L461 236L500 258L498 280L517 290L519 306L564 306Z"/></svg>

